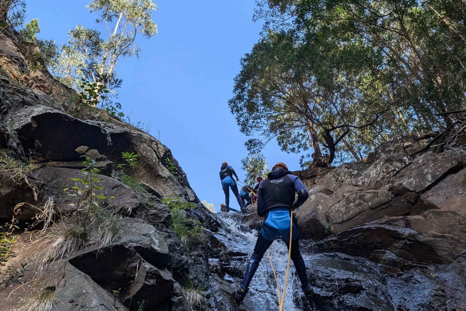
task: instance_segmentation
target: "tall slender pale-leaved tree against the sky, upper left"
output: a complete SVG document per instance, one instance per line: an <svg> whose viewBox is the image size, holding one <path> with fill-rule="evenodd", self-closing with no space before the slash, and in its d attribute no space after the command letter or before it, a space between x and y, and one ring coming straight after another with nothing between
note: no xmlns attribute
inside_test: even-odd
<svg viewBox="0 0 466 311"><path fill-rule="evenodd" d="M156 5L151 0L91 0L86 7L104 31L82 25L71 29L55 75L76 90L81 79L101 83L114 97L122 83L116 72L118 61L133 55L139 58L141 49L135 44L136 38L157 34L157 24L152 20ZM101 102L103 108L106 104L110 102Z"/></svg>

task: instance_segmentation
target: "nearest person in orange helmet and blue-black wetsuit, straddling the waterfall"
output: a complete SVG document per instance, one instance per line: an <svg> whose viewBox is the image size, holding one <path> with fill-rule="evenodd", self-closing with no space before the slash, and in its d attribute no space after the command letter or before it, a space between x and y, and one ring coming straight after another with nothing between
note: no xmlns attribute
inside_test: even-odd
<svg viewBox="0 0 466 311"><path fill-rule="evenodd" d="M295 201L295 193L298 198ZM281 239L289 249L290 240L290 216L293 210L300 207L307 199L309 193L302 181L288 171L288 167L279 162L274 165L267 179L260 182L257 192L257 214L265 216L260 230L254 252L247 262L246 272L240 289L233 293L234 299L241 303L249 290L249 283L259 267L260 260L264 256L272 242ZM312 287L308 282L306 265L299 251L298 228L293 223L291 259L301 281L304 295L310 299L313 295Z"/></svg>

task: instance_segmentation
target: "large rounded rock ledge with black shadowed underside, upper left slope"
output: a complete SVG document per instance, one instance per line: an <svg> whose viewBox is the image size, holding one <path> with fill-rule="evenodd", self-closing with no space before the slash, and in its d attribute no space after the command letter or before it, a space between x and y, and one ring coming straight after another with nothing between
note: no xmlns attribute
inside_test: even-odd
<svg viewBox="0 0 466 311"><path fill-rule="evenodd" d="M23 148L34 151L34 157L41 162L79 161L81 154L75 149L82 145L116 163L122 162L122 152L135 152L140 157L134 177L157 197L174 194L197 200L170 149L147 133L107 122L83 121L41 105L14 108L6 118L14 120L11 129L18 134ZM176 166L176 174L166 168L166 158Z"/></svg>

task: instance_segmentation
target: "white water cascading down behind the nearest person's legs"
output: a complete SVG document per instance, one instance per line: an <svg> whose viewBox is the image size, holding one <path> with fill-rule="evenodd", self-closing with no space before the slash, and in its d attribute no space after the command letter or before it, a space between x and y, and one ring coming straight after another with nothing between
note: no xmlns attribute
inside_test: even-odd
<svg viewBox="0 0 466 311"><path fill-rule="evenodd" d="M218 233L215 233L215 235L227 246L230 254L240 255L238 256L238 268L244 271L247 260L249 260L249 256L251 256L257 240L257 231L241 224L240 221L244 214L219 213L217 215L224 222L225 227L220 229ZM272 243L268 251L272 258L274 270L280 284L280 292L282 293L287 270L288 249L284 242L275 241ZM233 279L230 278L230 280ZM234 278L234 281L236 281L234 284L239 287L241 280L239 280L239 278ZM252 302L254 310L278 310L277 287L267 253L260 262L259 268L257 269L249 288L250 290L247 294L247 298ZM302 310L302 308L296 306L293 301L294 297L296 298L301 296L301 283L299 282L295 273L295 267L291 261L283 310ZM296 301L299 301L299 299L296 299Z"/></svg>

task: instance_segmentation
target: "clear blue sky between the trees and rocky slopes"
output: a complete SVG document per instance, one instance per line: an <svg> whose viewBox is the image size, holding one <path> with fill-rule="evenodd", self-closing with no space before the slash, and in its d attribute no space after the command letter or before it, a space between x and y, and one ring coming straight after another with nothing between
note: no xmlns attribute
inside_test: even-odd
<svg viewBox="0 0 466 311"><path fill-rule="evenodd" d="M27 21L39 19L43 39L66 42L76 24L96 28L85 5L89 0L27 0ZM219 180L223 161L244 179L240 159L247 137L228 108L240 58L259 39L254 0L156 0L153 19L158 35L138 38L140 59L122 60L118 102L130 117L151 123L150 133L167 145L200 200L219 209L224 194ZM65 4L66 3L66 4ZM262 152L267 162L299 169L299 155L281 152L271 142ZM231 198L233 199L232 195ZM236 208L235 200L230 200Z"/></svg>

